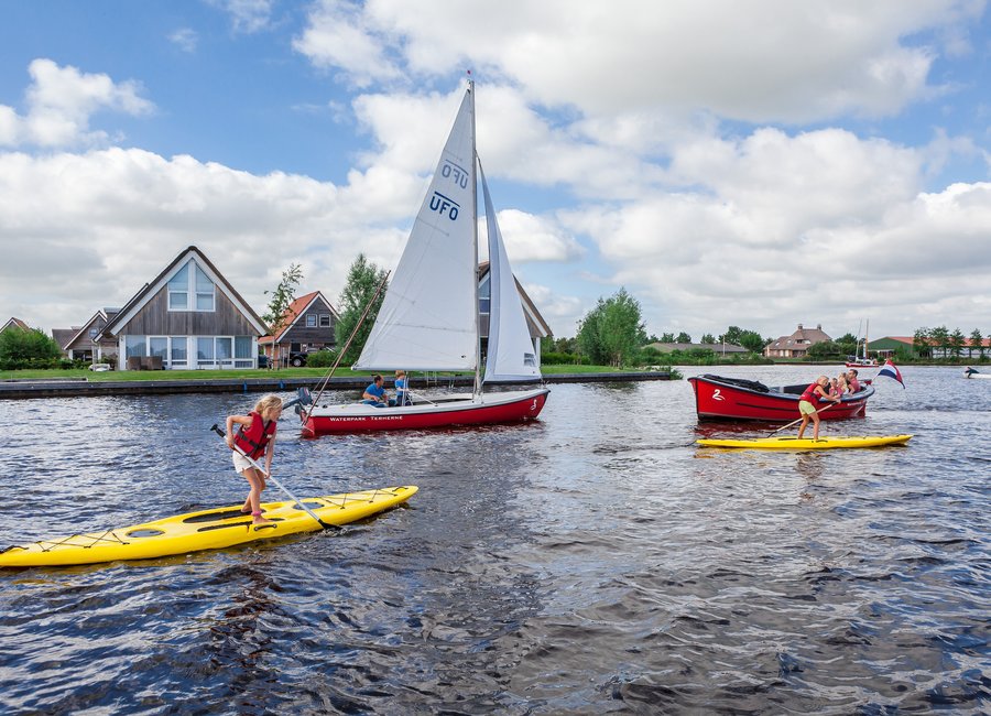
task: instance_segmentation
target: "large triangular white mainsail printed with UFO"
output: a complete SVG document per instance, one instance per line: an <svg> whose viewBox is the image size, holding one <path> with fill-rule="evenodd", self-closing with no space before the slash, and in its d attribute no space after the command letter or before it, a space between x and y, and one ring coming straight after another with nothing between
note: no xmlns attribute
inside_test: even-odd
<svg viewBox="0 0 991 716"><path fill-rule="evenodd" d="M476 369L476 204L469 86L356 368Z"/></svg>

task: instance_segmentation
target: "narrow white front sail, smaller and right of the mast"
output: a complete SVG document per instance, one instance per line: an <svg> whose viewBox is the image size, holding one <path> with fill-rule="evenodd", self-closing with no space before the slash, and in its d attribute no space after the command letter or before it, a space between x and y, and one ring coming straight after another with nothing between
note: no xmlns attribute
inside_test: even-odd
<svg viewBox="0 0 991 716"><path fill-rule="evenodd" d="M505 253L502 231L489 196L486 173L481 171L486 200L486 225L489 234L489 346L486 380L533 380L541 378L533 339L523 315L523 301Z"/></svg>

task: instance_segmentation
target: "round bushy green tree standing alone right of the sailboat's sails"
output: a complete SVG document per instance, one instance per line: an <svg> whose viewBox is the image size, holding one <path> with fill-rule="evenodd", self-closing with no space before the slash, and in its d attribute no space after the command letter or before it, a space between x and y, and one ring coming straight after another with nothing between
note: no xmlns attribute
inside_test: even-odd
<svg viewBox="0 0 991 716"><path fill-rule="evenodd" d="M578 328L581 352L598 365L622 367L632 361L645 341L640 303L625 289L609 299L599 299Z"/></svg>

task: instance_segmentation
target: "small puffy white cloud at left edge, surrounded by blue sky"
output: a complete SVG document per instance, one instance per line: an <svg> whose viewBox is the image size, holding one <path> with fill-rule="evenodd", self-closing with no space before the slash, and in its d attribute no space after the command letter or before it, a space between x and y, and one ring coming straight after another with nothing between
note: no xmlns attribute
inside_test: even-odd
<svg viewBox="0 0 991 716"><path fill-rule="evenodd" d="M115 83L102 74L84 74L76 67L59 67L51 59L35 59L28 68L28 113L19 116L0 106L0 144L8 147L72 147L107 140L89 130L89 118L101 109L145 115L154 109L140 96L134 82Z"/></svg>

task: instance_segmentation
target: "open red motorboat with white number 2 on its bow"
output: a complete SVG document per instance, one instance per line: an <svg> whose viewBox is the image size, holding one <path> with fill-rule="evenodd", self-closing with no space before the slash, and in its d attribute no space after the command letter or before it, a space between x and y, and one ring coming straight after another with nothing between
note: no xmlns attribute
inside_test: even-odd
<svg viewBox="0 0 991 716"><path fill-rule="evenodd" d="M798 400L809 383L769 388L756 380L696 376L689 378L695 390L695 410L699 420L760 420L788 423L801 417ZM812 382L812 381L809 381ZM840 402L819 413L823 420L863 417L873 386L843 395Z"/></svg>

